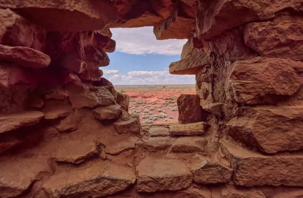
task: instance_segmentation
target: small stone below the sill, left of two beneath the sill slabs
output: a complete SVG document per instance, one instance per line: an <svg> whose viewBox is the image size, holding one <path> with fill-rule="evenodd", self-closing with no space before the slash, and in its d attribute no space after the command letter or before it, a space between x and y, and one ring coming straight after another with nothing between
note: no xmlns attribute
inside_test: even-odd
<svg viewBox="0 0 303 198"><path fill-rule="evenodd" d="M149 152L157 152L170 147L173 140L169 137L151 137L143 140L142 146Z"/></svg>

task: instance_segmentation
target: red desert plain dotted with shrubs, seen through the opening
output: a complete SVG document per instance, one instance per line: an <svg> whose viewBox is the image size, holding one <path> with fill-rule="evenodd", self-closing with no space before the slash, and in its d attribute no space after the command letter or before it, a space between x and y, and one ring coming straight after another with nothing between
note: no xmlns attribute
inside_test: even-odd
<svg viewBox="0 0 303 198"><path fill-rule="evenodd" d="M195 94L195 85L116 86L118 92L130 96L129 113L138 113L140 121L157 123L178 121L177 98Z"/></svg>

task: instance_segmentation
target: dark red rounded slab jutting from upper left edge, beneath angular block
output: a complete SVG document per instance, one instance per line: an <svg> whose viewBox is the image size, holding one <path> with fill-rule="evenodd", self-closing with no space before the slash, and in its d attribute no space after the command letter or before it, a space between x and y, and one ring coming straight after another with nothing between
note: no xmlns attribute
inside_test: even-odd
<svg viewBox="0 0 303 198"><path fill-rule="evenodd" d="M41 68L51 63L51 58L42 52L27 47L0 45L0 59L23 67Z"/></svg>

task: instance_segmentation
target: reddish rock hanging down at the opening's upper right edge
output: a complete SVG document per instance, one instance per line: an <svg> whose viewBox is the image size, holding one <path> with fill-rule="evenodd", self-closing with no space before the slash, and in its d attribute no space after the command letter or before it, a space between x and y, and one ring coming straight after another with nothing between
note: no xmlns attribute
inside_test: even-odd
<svg viewBox="0 0 303 198"><path fill-rule="evenodd" d="M194 19L182 15L179 10L174 10L169 18L154 26L154 33L158 40L189 38L192 35L194 23Z"/></svg>

